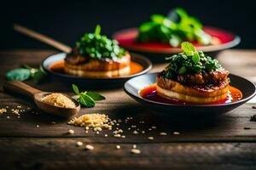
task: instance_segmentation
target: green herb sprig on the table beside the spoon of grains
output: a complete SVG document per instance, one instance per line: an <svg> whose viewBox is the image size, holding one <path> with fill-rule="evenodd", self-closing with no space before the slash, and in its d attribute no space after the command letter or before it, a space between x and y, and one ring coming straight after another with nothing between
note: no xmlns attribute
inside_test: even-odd
<svg viewBox="0 0 256 170"><path fill-rule="evenodd" d="M84 91L80 92L77 85L72 84L73 92L77 94L78 101L81 105L85 107L94 107L96 105L96 100L106 99L101 94L97 94L96 92Z"/></svg>

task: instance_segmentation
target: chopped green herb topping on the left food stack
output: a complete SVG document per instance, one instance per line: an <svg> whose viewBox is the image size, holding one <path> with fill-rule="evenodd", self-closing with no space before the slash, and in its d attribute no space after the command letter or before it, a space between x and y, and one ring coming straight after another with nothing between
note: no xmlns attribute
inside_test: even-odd
<svg viewBox="0 0 256 170"><path fill-rule="evenodd" d="M101 35L101 26L97 25L94 33L85 33L79 42L76 42L79 54L92 59L121 58L125 49L119 43Z"/></svg>

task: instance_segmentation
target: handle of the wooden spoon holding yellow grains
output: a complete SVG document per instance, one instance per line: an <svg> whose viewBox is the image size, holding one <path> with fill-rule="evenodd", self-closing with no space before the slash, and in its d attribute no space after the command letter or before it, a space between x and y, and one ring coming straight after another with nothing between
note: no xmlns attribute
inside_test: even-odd
<svg viewBox="0 0 256 170"><path fill-rule="evenodd" d="M9 92L26 95L32 99L34 98L35 94L42 92L36 88L32 88L31 86L28 86L26 83L20 82L20 81L4 82L3 89L7 90Z"/></svg>

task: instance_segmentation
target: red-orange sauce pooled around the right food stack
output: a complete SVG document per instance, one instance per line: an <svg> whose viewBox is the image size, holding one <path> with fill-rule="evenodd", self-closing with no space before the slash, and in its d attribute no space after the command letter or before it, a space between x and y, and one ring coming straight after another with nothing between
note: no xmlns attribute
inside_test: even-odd
<svg viewBox="0 0 256 170"><path fill-rule="evenodd" d="M220 104L225 104L225 103L230 103L230 102L235 102L237 100L240 100L242 98L241 91L233 86L229 86L229 92L228 96L226 99L220 100L218 102L213 102L213 103L207 103L207 104L201 104L201 105L220 105ZM166 104L174 104L174 105L197 105L195 103L189 103L177 99L166 99L160 97L156 93L156 84L152 84L146 88L143 88L139 91L139 94L144 98L160 103L166 103Z"/></svg>

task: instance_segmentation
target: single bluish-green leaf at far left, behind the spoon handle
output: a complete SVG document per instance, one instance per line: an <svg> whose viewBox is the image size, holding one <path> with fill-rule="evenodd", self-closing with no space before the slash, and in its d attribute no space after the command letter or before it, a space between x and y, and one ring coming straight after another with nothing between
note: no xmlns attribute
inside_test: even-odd
<svg viewBox="0 0 256 170"><path fill-rule="evenodd" d="M29 69L16 68L14 70L8 71L5 75L8 81L25 81L31 77L31 72Z"/></svg>

